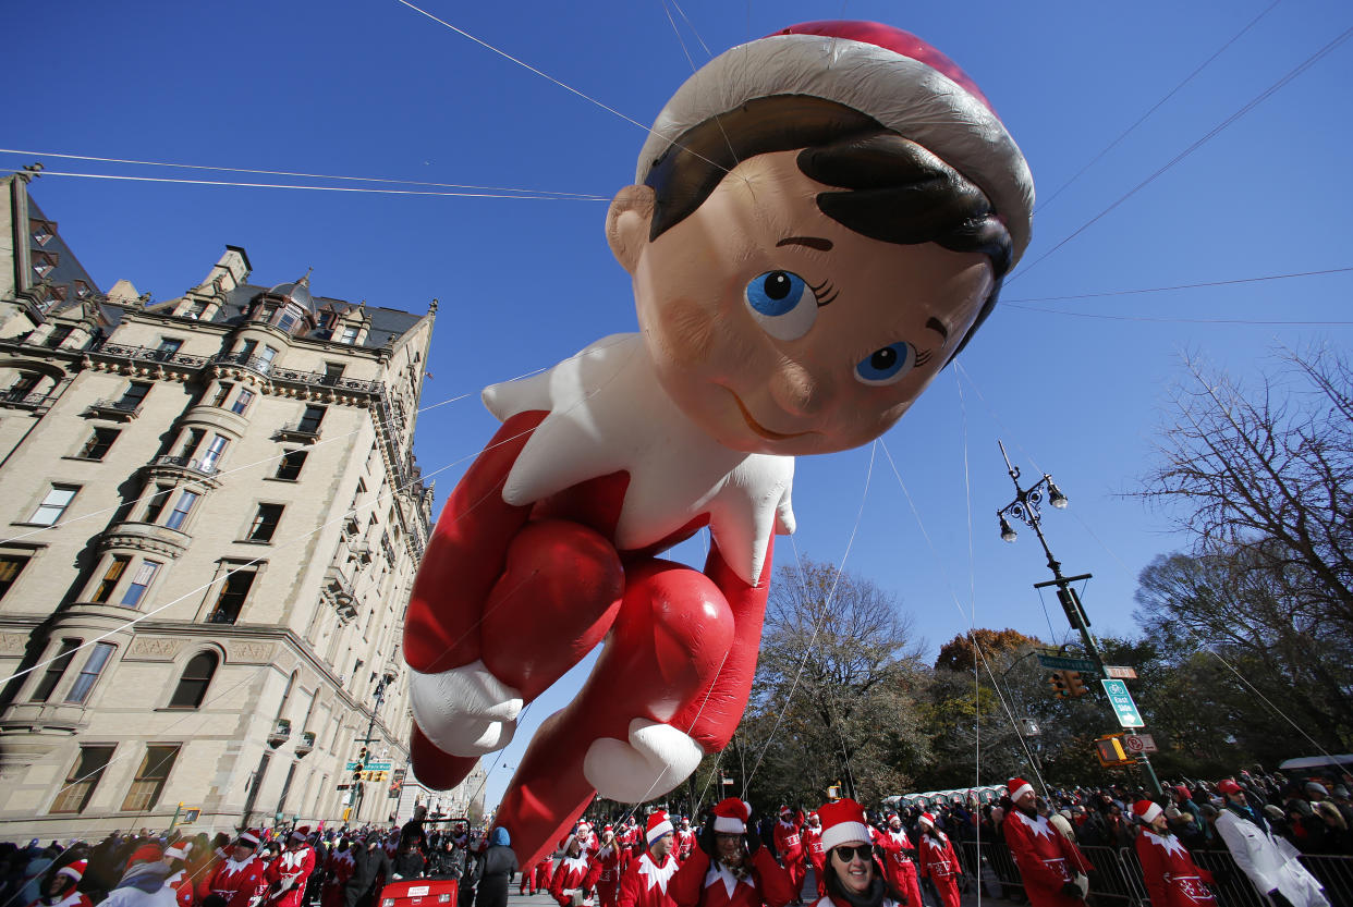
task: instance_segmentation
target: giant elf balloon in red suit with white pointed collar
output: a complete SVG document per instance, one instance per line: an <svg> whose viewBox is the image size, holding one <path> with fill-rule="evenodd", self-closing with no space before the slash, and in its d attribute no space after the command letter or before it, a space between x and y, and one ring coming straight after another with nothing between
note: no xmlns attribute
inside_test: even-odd
<svg viewBox="0 0 1353 907"><path fill-rule="evenodd" d="M747 704L794 457L885 433L990 312L1032 178L977 85L897 28L819 22L667 103L606 238L639 334L494 385L405 631L414 772L460 781L605 639L498 811L522 865L591 796L637 803ZM709 527L704 570L658 558Z"/></svg>

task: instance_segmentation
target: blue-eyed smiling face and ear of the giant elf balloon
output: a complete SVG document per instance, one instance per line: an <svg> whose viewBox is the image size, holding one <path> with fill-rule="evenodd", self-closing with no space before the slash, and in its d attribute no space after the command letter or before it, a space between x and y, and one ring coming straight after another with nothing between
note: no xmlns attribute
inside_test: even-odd
<svg viewBox="0 0 1353 907"><path fill-rule="evenodd" d="M796 157L743 161L652 242L648 189L632 187L612 208L612 245L633 274L659 380L733 450L817 454L879 437L992 291L980 253L881 242L824 215L815 199L836 189L804 176Z"/></svg>

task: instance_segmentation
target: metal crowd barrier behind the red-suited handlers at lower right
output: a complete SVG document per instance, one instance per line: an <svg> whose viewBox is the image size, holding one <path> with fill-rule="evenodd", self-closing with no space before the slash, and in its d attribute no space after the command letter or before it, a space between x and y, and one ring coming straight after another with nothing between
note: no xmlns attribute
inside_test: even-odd
<svg viewBox="0 0 1353 907"><path fill-rule="evenodd" d="M1026 902L1019 866L1004 841L959 841L958 861L969 885L981 884L988 896ZM1092 907L1151 907L1137 852L1131 848L1081 848L1095 872L1089 873ZM1215 877L1219 907L1272 907L1250 884L1227 850L1193 850L1193 862ZM1303 854L1302 864L1325 887L1331 907L1353 907L1353 857ZM1000 893L997 893L997 889ZM1155 906L1161 907L1161 906Z"/></svg>

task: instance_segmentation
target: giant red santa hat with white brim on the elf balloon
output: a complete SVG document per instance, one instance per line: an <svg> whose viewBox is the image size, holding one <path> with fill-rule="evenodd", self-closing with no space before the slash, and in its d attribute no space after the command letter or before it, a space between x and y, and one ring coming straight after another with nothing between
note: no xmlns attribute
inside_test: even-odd
<svg viewBox="0 0 1353 907"><path fill-rule="evenodd" d="M778 95L836 101L939 155L982 189L1011 232L1011 264L1019 261L1034 211L1024 154L954 61L916 35L875 22L805 22L712 59L658 115L635 182L647 182L690 128Z"/></svg>

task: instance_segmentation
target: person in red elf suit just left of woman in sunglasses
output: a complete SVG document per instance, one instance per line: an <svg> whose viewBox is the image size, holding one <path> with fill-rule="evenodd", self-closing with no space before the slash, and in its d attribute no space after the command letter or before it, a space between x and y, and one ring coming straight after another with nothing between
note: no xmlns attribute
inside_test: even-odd
<svg viewBox="0 0 1353 907"><path fill-rule="evenodd" d="M714 807L700 848L672 877L676 907L785 907L793 898L789 872L748 834L751 807L729 798Z"/></svg>

